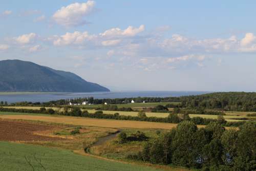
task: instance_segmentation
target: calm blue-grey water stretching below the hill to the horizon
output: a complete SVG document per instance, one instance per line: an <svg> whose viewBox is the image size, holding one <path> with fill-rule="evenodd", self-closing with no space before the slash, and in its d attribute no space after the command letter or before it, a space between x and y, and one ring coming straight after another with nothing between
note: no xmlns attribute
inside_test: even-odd
<svg viewBox="0 0 256 171"><path fill-rule="evenodd" d="M78 97L103 98L130 98L130 97L178 97L187 95L199 95L209 92L185 92L185 91L127 91L127 92L95 92L95 93L28 93L28 94L8 94L0 95L0 101L20 102L46 102L58 99L70 99Z"/></svg>

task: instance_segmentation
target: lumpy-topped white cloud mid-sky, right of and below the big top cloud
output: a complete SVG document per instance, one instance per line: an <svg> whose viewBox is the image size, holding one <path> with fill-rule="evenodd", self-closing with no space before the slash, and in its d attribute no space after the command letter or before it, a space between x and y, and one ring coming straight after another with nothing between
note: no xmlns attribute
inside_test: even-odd
<svg viewBox="0 0 256 171"><path fill-rule="evenodd" d="M125 30L121 30L119 28L113 28L110 30L106 30L104 33L100 33L103 37L116 37L116 36L135 36L136 34L145 30L145 26L141 25L139 28L134 28L129 26Z"/></svg>

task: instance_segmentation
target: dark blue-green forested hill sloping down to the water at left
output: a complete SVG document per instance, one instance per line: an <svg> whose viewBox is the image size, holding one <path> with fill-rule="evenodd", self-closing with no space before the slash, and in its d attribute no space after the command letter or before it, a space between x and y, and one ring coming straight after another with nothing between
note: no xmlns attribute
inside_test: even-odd
<svg viewBox="0 0 256 171"><path fill-rule="evenodd" d="M103 92L110 91L71 72L57 71L21 60L0 61L0 91Z"/></svg>

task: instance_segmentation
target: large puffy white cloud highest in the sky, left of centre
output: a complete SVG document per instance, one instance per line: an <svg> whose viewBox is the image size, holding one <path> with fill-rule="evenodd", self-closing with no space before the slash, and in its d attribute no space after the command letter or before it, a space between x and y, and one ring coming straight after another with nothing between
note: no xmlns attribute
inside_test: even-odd
<svg viewBox="0 0 256 171"><path fill-rule="evenodd" d="M53 14L55 22L62 26L79 26L86 24L84 16L90 14L95 6L94 1L88 1L87 3L74 3L67 7L61 7Z"/></svg>

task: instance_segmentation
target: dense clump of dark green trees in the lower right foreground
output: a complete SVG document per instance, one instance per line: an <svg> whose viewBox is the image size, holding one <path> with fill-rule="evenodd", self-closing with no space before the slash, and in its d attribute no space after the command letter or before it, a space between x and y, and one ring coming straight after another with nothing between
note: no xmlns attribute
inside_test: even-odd
<svg viewBox="0 0 256 171"><path fill-rule="evenodd" d="M127 158L205 171L251 171L256 170L255 135L255 122L246 122L239 130L225 130L218 122L198 129L195 123L183 121Z"/></svg>

